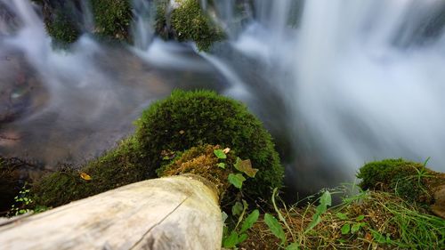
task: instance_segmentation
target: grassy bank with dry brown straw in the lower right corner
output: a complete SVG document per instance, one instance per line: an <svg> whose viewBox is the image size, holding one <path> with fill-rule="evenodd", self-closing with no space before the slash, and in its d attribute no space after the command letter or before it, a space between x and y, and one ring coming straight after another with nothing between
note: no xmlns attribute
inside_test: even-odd
<svg viewBox="0 0 445 250"><path fill-rule="evenodd" d="M318 199L319 206L277 208L279 219L260 216L240 248L433 250L445 246L445 220L424 214L391 193L360 191L338 206L320 210L330 205L330 195L325 194Z"/></svg>

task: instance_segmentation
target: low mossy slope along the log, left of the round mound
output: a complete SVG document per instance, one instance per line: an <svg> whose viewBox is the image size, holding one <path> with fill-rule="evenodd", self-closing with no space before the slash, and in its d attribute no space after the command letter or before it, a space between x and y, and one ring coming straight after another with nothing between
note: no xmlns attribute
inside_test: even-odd
<svg viewBox="0 0 445 250"><path fill-rule="evenodd" d="M61 206L144 180L145 167L138 162L136 145L133 138L130 138L122 141L117 149L110 150L80 170L67 168L45 175L31 188L36 205Z"/></svg>

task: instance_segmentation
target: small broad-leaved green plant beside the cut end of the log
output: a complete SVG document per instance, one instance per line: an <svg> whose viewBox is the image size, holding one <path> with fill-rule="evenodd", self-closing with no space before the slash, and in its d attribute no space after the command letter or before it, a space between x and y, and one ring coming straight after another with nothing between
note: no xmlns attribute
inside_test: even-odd
<svg viewBox="0 0 445 250"><path fill-rule="evenodd" d="M251 229L254 226L255 222L258 221L260 212L255 209L252 213L247 215L246 219L244 219L245 215L247 214L247 208L248 206L245 200L242 200L242 204L237 202L234 206L232 206L232 215L238 216L238 222L235 228L230 231L230 233L227 225L224 224L223 247L234 248L243 243L248 238L247 230ZM225 214L225 216L223 215L223 217L227 218L227 214ZM241 225L240 228L239 225Z"/></svg>

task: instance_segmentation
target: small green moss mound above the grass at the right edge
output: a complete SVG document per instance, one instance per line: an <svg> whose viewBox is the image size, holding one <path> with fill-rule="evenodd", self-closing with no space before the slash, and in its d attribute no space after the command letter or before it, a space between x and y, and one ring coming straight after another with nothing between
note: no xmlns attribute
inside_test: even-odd
<svg viewBox="0 0 445 250"><path fill-rule="evenodd" d="M429 179L433 171L425 165L403 159L385 159L363 165L357 177L362 179L360 188L395 193L408 201L431 203Z"/></svg>

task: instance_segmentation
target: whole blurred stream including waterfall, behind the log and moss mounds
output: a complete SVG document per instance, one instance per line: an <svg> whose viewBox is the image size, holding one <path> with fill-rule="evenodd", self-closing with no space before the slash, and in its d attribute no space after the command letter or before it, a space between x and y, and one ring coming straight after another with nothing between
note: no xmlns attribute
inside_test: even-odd
<svg viewBox="0 0 445 250"><path fill-rule="evenodd" d="M61 50L34 4L0 0L0 154L82 163L132 133L150 101L208 88L263 120L303 193L387 157L445 171L443 1L213 2L201 5L228 38L198 52L153 35L152 1L133 1L134 46L85 32Z"/></svg>

